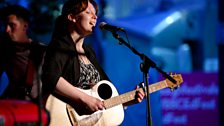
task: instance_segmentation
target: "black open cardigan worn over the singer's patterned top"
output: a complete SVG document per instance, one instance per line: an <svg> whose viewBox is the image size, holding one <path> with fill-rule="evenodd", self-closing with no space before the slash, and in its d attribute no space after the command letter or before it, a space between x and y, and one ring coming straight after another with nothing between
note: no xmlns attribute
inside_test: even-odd
<svg viewBox="0 0 224 126"><path fill-rule="evenodd" d="M100 80L109 80L97 62L93 49L85 44L83 48L85 55L99 72ZM42 69L43 93L52 93L60 77L63 77L72 85L78 86L80 62L70 35L55 36L48 45Z"/></svg>

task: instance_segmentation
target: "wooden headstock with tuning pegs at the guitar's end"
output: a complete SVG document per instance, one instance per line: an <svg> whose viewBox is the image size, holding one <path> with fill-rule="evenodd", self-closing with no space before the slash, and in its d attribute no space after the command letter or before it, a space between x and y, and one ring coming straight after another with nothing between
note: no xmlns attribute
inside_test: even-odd
<svg viewBox="0 0 224 126"><path fill-rule="evenodd" d="M170 75L174 80L176 80L176 84L174 84L173 82L171 82L170 80L166 79L166 83L167 83L167 87L169 87L172 91L177 88L180 87L180 84L183 83L183 78L181 76L181 74L171 74Z"/></svg>

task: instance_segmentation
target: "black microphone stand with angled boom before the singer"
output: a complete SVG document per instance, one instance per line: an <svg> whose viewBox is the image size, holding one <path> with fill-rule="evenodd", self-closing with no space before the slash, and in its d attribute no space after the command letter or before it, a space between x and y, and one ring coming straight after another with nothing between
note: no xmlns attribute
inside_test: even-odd
<svg viewBox="0 0 224 126"><path fill-rule="evenodd" d="M143 72L145 76L145 83L146 83L146 100L147 100L147 126L152 126L152 117L150 112L150 95L149 95L149 68L155 68L157 71L159 71L163 77L169 79L171 82L176 84L176 80L174 80L170 75L166 74L164 71L162 71L159 67L157 67L156 63L154 63L151 59L149 59L146 55L139 53L135 48L133 48L129 43L127 43L123 38L121 38L116 32L112 32L113 37L119 40L119 44L124 44L127 46L134 54L138 55L142 59L142 63L140 64L141 71ZM144 87L143 87L144 88Z"/></svg>

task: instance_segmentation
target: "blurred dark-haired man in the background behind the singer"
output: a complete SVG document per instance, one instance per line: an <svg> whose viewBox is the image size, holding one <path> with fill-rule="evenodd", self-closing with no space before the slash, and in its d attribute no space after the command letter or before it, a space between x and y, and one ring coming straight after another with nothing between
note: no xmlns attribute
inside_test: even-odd
<svg viewBox="0 0 224 126"><path fill-rule="evenodd" d="M29 10L20 5L1 9L0 77L5 72L9 80L1 99L37 99L46 45L29 36L30 17Z"/></svg>

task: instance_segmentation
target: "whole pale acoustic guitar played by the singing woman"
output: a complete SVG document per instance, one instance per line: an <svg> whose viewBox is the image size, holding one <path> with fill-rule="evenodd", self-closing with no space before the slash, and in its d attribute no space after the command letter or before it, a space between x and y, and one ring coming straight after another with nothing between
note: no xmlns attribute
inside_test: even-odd
<svg viewBox="0 0 224 126"><path fill-rule="evenodd" d="M148 93L150 94L167 87L173 90L183 82L180 74L171 75L171 77L176 80L176 84L165 79L148 85ZM50 95L45 106L50 113L50 126L118 126L124 119L122 104L135 100L136 91L143 91L143 88L119 95L111 82L102 80L91 89L80 90L101 99L104 102L105 109L91 115L79 115L72 106Z"/></svg>

